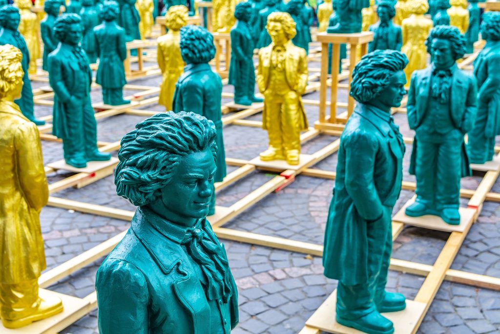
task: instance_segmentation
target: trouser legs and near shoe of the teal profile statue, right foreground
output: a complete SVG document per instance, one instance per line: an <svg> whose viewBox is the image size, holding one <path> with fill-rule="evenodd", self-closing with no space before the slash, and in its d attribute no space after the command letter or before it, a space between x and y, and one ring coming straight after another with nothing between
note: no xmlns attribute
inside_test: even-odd
<svg viewBox="0 0 500 334"><path fill-rule="evenodd" d="M387 242L387 238L392 237L391 207L384 206L383 210L380 219L366 222L367 281L355 285L346 285L339 281L337 286L337 322L370 334L389 334L393 331L392 322L377 311L377 303L382 304L388 261L392 251L389 248L392 243ZM384 277L380 277L382 275Z"/></svg>

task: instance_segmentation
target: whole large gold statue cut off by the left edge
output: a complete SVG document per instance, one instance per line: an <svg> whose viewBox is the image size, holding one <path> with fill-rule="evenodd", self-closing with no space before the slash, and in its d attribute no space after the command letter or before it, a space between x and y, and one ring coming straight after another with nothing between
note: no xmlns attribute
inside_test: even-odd
<svg viewBox="0 0 500 334"><path fill-rule="evenodd" d="M38 296L45 269L39 214L48 187L36 125L14 103L22 89L21 59L18 49L0 46L0 316L7 328L62 311L59 298Z"/></svg>

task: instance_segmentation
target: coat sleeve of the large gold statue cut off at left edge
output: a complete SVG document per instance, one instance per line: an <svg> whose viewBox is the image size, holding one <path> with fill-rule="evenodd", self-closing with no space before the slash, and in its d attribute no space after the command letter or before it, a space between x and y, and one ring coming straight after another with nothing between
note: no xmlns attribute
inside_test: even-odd
<svg viewBox="0 0 500 334"><path fill-rule="evenodd" d="M17 175L29 206L40 210L48 201L48 186L43 169L38 129L34 123L21 124L14 137L17 152Z"/></svg>

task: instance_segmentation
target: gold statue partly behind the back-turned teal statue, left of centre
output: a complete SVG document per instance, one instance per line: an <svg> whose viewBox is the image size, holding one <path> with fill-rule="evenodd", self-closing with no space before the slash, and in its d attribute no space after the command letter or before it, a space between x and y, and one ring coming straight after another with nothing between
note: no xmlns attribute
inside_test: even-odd
<svg viewBox="0 0 500 334"><path fill-rule="evenodd" d="M158 38L156 53L158 66L161 70L161 82L158 104L165 106L166 111L172 110L173 92L175 83L184 70L184 61L180 56L180 28L187 23L187 7L171 6L165 15L166 35Z"/></svg>

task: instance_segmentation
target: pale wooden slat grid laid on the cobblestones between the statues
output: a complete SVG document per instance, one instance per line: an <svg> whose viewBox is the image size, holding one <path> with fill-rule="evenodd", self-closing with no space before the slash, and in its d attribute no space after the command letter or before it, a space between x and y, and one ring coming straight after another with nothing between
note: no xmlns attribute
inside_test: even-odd
<svg viewBox="0 0 500 334"><path fill-rule="evenodd" d="M318 34L319 35L319 34ZM365 37L363 37L365 38ZM321 39L321 37L318 36L318 39ZM358 44L361 44L359 42ZM355 50L355 45L354 47L351 46L351 50ZM324 44L323 44L324 46ZM327 49L325 49L322 46L322 52L320 54L321 61L324 63L324 60L327 60ZM326 56L325 56L325 51L326 50ZM364 48L365 51L365 48ZM363 51L361 52L361 54ZM355 53L351 53L355 54ZM473 58L477 55L474 54ZM352 55L351 55L352 56ZM352 56L353 57L353 56ZM472 61L473 58L469 57L469 59L466 59L464 62L460 64L460 67L465 67L468 66ZM355 63L355 59L350 59L350 64ZM352 71L352 66L350 66L349 70L349 77L351 76L351 71ZM147 75L147 74L146 74ZM317 78L317 76L315 77ZM331 86L335 86L336 88L340 89L348 89L349 88L349 83L347 85L345 84L339 84L338 81L345 79L344 77L338 77L336 75L332 76L331 79ZM326 77L321 77L321 87L324 87L326 89ZM95 117L96 118L105 118L105 117L110 117L114 115L119 115L119 114L127 114L127 115L136 115L136 116L144 116L144 117L149 117L151 115L157 114L155 111L148 111L148 110L139 110L136 109L138 107L145 107L147 105L155 104L157 103L157 96L155 97L150 97L144 100L141 100L147 96L155 95L159 89L157 87L147 87L147 86L137 86L137 85L127 85L125 86L125 89L136 89L140 90L141 92L138 93L138 95L134 95L132 97L126 97L129 99L134 99L136 100L136 103L133 103L131 105L125 105L125 106L105 106L102 104L96 104L93 107L97 110L101 110L101 112L96 113ZM308 92L318 90L319 85L317 83L310 83L308 86ZM49 88L42 88L38 90L34 90L35 94L35 103L40 104L40 105L50 105L49 103L51 101L49 100L44 100L44 98L51 97L53 93ZM231 97L230 94L223 93L223 97ZM141 101L140 101L141 100ZM310 105L317 105L319 106L320 110L323 108L323 110L326 108L327 103L324 99L320 99L319 102L317 101L307 101L304 99L304 104L310 104ZM332 103L333 104L333 103ZM345 104L345 106L348 108L348 103ZM223 106L222 107L222 112L228 112L230 110L234 110L237 108L231 107L230 104ZM262 110L262 106L252 106L247 109L243 109L237 113L232 113L230 115L224 116L222 118L223 125L240 125L240 126L250 126L250 127L260 127L261 122L258 121L250 121L250 120L245 120L245 118L254 115ZM331 104L330 104L330 110L331 110ZM394 108L393 112L398 112L398 113L404 113L405 108ZM321 112L320 112L321 115ZM347 113L347 115L349 115ZM331 117L331 115L330 115ZM51 117L47 116L44 118L47 121L51 120ZM326 119L326 118L324 118ZM40 138L42 140L49 140L49 141L58 141L54 136L46 134L46 132L50 131L51 125L48 124L47 126L44 127L39 127L40 130ZM328 134L328 135L334 135L334 136L339 136L341 134L343 127L332 127L328 129L314 129L314 128L309 128L306 132L301 134L301 142L305 142L308 140L311 140L315 138L316 136L320 134ZM405 142L411 142L412 138L405 138ZM296 240L290 240L286 238L281 238L281 237L275 237L275 236L268 236L268 235L262 235L262 234L257 234L257 233L251 233L251 232L244 232L240 230L235 230L235 229L230 229L230 228L225 228L223 225L229 221L230 219L236 217L240 213L242 213L244 210L247 208L251 207L253 204L267 196L268 194L274 192L274 191L279 191L283 187L289 185L292 183L295 179L296 176L298 175L304 175L304 176L310 176L310 177L317 177L317 178L323 178L323 179L330 179L333 180L335 178L335 172L331 171L324 171L320 169L315 169L311 168L313 165L317 164L321 160L325 159L326 157L330 156L331 154L334 154L339 147L340 141L339 139L334 140L330 144L326 145L322 149L318 150L317 152L313 153L311 155L311 160L301 166L298 169L280 169L280 168L272 168L272 167L262 167L262 166L256 166L250 161L247 160L242 160L242 159L232 159L232 158L226 158L226 164L231 165L231 166L237 166L238 168L234 170L233 172L229 173L222 182L216 183L215 184L215 189L216 191L219 191L228 185L231 185L238 180L248 176L255 170L263 170L263 171L270 171L273 173L276 173L276 175L258 187L256 190L250 192L246 196L244 196L242 199L237 201L236 203L232 204L229 207L218 207L217 211L220 211L221 214L212 217L214 219L211 219L210 222L213 227L213 231L217 234L219 238L222 239L227 239L227 240L233 240L233 241L239 241L239 242L244 242L244 243L250 243L250 244L255 244L255 245L261 245L265 247L272 247L272 248L277 248L277 249L282 249L282 250L288 250L288 251L293 251L293 252L299 252L299 253L304 253L304 254L310 254L314 256L322 256L322 251L323 247L320 244L313 244L313 243L308 243L308 242L302 242L302 241L296 241ZM116 151L119 149L119 142L114 142L114 143L107 143L107 142L99 142L99 150L101 151ZM498 151L498 148L497 148ZM500 155L499 155L500 156ZM45 168L46 173L51 173L54 170L52 168ZM104 173L77 173L72 176L69 176L63 180L51 183L49 185L49 191L50 194L53 195L56 192L66 189L68 187L72 186L84 186L86 184L92 183L97 181L98 179L109 175L112 173L112 168L109 169L107 168ZM480 212L480 209L482 208L482 203L484 201L494 201L494 202L500 202L500 194L499 193L493 193L491 192L491 187L493 186L494 182L496 181L497 177L500 174L500 169L496 171L488 171L486 172L485 176L483 177L482 181L480 182L479 186L477 187L476 190L468 190L468 189L461 189L460 190L460 196L464 198L469 198L468 202L468 207L473 208L476 210L475 217ZM415 183L414 182L407 182L403 181L402 182L402 188L406 190L414 190L415 189ZM111 217L114 219L120 219L124 221L130 221L131 218L133 217L134 212L133 211L128 211L128 210L122 210L122 209L116 209L116 208L111 208L111 207L106 207L102 205L96 205L96 204L89 204L89 203L84 203L84 202L79 202L79 201L73 201L73 200L68 200L64 198L59 198L59 197L54 197L50 196L49 201L48 201L48 206L52 207L57 207L57 208L63 208L63 209L71 209L87 214L93 214L93 215L98 215L98 216L104 216L104 217ZM403 223L400 222L392 222L392 234L393 234L393 239L395 239L399 233L402 231L404 227ZM453 261L456 253L458 252L458 249L460 245L462 244L463 240L465 239L465 236L468 232L468 228L464 232L452 232L442 248L442 251L440 255L438 256L437 260L434 262L433 265L427 265L427 264L421 264L421 263L416 263L416 262L411 262L411 261L405 261L405 260L399 260L399 259L391 259L390 260L390 269L391 270L396 270L396 271L403 271L403 272L408 272L412 273L415 275L420 275L426 277L421 288L419 289L418 294L415 297L416 301L423 302L425 303L425 310L422 314L422 316L419 318L419 323L423 319L423 316L425 315L426 310L430 306L430 303L433 300L433 297L435 296L435 293L437 292L438 288L440 287L440 284L443 280L447 281L452 281L452 282L458 282L462 284L468 284L476 287L482 287L482 288L488 288L488 289L493 289L493 290L498 290L500 291L500 278L497 277L491 277L487 275L479 275L479 274L474 274L474 273L469 273L465 271L460 271L460 270L452 270L449 269L451 262ZM40 287L47 287L51 284L56 283L57 281L63 279L64 277L70 275L71 273L74 273L75 271L91 264L92 262L98 260L99 258L107 255L113 248L114 246L122 239L123 235L126 232L121 232L110 239L100 243L99 245L81 253L80 255L44 272L38 282ZM53 326L51 326L50 331L46 332L56 332L59 331L65 327L67 327L69 324L73 323L77 319L81 318L88 312L90 312L92 309L94 309L97 306L97 299L96 299L96 292L92 292L89 295L80 298L82 301L85 303L85 307L82 309L79 309L77 312L74 312L73 314L68 315L66 318L61 320L58 323L55 323ZM416 326L418 328L418 326ZM306 333L319 333L319 329L312 327L310 325L305 325L302 330L300 331L301 334L306 334Z"/></svg>

